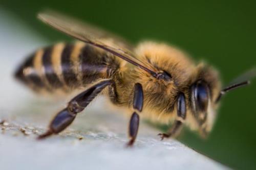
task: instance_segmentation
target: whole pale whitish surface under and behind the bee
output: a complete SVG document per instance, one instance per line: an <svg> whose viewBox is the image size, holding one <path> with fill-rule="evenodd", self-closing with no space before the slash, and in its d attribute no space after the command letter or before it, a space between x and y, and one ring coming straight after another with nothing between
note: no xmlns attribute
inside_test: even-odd
<svg viewBox="0 0 256 170"><path fill-rule="evenodd" d="M67 100L56 103L36 98L13 80L15 66L46 41L22 22L7 18L1 8L0 23L0 118L8 123L0 125L1 169L227 168L176 140L160 141L159 131L143 123L134 148L125 148L128 119L120 111L106 110L102 98L79 114L64 133L37 141L36 134L46 130L52 115Z"/></svg>

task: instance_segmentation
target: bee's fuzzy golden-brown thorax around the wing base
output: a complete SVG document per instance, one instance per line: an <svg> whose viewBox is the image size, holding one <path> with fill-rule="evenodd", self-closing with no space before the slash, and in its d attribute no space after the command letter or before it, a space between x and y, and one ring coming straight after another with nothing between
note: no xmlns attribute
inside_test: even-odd
<svg viewBox="0 0 256 170"><path fill-rule="evenodd" d="M135 69L134 77L144 88L145 107L158 108L159 113L172 113L178 93L185 91L193 79L196 71L193 62L177 48L154 42L141 43L136 54L157 72L166 71L172 76L171 81L165 81Z"/></svg>

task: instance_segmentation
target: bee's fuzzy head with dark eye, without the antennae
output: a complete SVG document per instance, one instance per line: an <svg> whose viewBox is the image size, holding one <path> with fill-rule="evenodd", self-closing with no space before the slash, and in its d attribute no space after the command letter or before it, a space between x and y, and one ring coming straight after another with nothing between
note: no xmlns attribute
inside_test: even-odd
<svg viewBox="0 0 256 170"><path fill-rule="evenodd" d="M220 81L217 72L209 66L199 65L198 74L188 93L191 113L203 137L208 135L214 125L218 107L215 101L219 92Z"/></svg>

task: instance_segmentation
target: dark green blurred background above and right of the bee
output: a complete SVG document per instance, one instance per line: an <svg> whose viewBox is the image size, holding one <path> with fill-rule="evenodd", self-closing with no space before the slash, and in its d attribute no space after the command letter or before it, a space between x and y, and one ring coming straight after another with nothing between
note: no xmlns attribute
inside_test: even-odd
<svg viewBox="0 0 256 170"><path fill-rule="evenodd" d="M84 19L133 43L153 39L175 44L218 68L224 84L256 65L255 1L2 0L0 6L52 42L71 38L36 19L44 8ZM255 92L253 81L251 86L228 93L207 140L188 130L179 139L232 168L254 169Z"/></svg>

